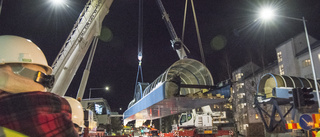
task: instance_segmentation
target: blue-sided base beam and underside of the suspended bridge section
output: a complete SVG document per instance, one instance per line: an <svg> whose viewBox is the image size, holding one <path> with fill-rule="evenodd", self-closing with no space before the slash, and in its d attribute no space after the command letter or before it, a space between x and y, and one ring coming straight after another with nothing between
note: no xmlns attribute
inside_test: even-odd
<svg viewBox="0 0 320 137"><path fill-rule="evenodd" d="M227 98L209 98L205 97L192 97L192 96L176 96L166 98L165 87L167 82L160 85L157 89L144 96L133 106L128 108L123 117L126 121L136 119L158 119L169 115L186 112L202 106L217 104L227 101ZM217 89L220 90L220 89ZM209 91L211 92L211 91ZM215 92L218 94L217 92ZM230 93L223 92L225 96Z"/></svg>

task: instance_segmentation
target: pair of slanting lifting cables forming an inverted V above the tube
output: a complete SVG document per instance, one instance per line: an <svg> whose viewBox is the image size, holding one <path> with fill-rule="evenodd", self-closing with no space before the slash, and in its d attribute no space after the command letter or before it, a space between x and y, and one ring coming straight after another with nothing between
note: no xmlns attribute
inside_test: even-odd
<svg viewBox="0 0 320 137"><path fill-rule="evenodd" d="M202 59L202 63L206 66L206 61L204 58L204 52L203 52L203 48L202 48L201 37L200 37L200 33L199 33L197 15L196 15L196 11L194 9L193 0L190 0L190 1L191 1L191 6L192 6L194 24L196 26L196 32L197 32L198 44L199 44L199 48L200 48L201 59ZM188 0L186 0L185 7L184 7L184 18L183 18L183 27L182 27L182 43L184 42L183 40L184 40L184 32L185 32L185 24L186 24L186 16L187 16L187 6L188 6Z"/></svg>

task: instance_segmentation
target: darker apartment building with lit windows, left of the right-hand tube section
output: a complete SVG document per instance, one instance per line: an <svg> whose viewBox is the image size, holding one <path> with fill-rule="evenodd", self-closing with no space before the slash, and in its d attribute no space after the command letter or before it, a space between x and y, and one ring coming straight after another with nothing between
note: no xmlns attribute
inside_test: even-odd
<svg viewBox="0 0 320 137"><path fill-rule="evenodd" d="M265 73L279 73L277 63L262 70L250 62L233 71L233 110L237 130L247 137L264 136L264 125L254 108L254 97L259 79Z"/></svg>

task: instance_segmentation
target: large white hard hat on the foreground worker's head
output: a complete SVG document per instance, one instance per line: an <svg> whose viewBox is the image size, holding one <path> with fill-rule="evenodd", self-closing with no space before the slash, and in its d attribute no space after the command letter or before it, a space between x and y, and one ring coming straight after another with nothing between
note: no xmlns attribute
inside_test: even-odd
<svg viewBox="0 0 320 137"><path fill-rule="evenodd" d="M37 64L51 74L46 57L41 49L31 40L12 35L0 36L0 65L7 63Z"/></svg>

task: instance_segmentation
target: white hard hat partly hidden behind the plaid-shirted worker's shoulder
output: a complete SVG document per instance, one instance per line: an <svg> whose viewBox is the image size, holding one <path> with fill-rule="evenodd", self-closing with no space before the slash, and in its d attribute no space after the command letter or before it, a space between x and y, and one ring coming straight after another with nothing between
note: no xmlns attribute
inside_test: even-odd
<svg viewBox="0 0 320 137"><path fill-rule="evenodd" d="M84 128L84 113L81 103L72 97L65 96L64 98L69 102L69 105L71 106L72 122L77 124L79 127Z"/></svg>

